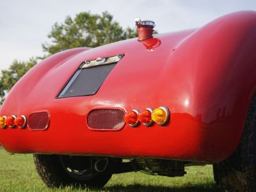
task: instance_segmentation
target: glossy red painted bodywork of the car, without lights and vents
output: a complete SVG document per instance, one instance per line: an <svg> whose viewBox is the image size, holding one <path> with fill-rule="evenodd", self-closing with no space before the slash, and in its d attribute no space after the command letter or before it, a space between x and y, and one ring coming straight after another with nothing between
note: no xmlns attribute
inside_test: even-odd
<svg viewBox="0 0 256 192"><path fill-rule="evenodd" d="M237 12L200 29L71 49L38 63L15 84L0 115L48 111L46 131L0 129L9 152L159 157L214 163L239 144L256 88L256 12ZM151 45L150 45L151 44ZM152 45L154 44L154 45ZM157 45L157 46L156 46ZM84 60L125 54L92 96L56 99ZM166 106L170 122L92 131L92 109Z"/></svg>

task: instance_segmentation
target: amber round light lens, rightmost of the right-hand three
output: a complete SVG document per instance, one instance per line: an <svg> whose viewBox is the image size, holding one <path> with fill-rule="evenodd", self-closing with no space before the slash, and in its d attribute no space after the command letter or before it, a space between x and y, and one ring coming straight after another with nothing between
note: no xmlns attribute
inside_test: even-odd
<svg viewBox="0 0 256 192"><path fill-rule="evenodd" d="M165 125L170 118L169 110L166 107L156 108L153 110L151 117L157 124Z"/></svg>

